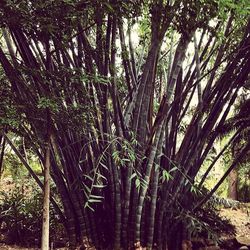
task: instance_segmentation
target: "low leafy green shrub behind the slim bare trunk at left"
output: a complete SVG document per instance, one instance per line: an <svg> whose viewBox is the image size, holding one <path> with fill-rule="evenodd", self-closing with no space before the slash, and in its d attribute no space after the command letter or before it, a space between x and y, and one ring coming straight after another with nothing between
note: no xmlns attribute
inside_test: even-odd
<svg viewBox="0 0 250 250"><path fill-rule="evenodd" d="M24 181L23 181L24 182ZM0 192L1 233L7 243L38 245L42 230L43 195L33 181L9 183L8 191ZM63 235L63 226L53 208L50 209L51 241Z"/></svg>

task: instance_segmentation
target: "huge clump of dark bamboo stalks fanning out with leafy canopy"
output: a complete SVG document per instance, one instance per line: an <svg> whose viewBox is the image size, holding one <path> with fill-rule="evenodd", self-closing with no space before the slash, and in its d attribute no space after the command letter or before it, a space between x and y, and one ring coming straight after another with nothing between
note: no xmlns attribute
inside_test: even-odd
<svg viewBox="0 0 250 250"><path fill-rule="evenodd" d="M51 201L72 249L181 249L190 237L190 217L249 149L195 198L249 80L247 10L247 1L0 2L1 142L15 148L12 131L44 161L49 138L62 207Z"/></svg>

